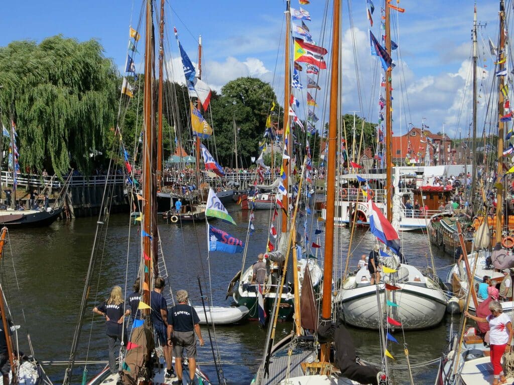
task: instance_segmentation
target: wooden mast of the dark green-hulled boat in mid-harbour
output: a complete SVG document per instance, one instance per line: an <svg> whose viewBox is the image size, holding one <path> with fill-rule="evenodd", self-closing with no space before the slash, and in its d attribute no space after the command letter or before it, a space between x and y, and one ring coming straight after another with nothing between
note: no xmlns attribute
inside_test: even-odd
<svg viewBox="0 0 514 385"><path fill-rule="evenodd" d="M291 144L290 144L290 140L287 138L287 131L288 131L288 127L289 127L289 106L290 106L290 102L289 102L289 98L290 98L290 92L291 92L291 86L289 84L289 81L290 81L290 57L289 57L289 54L290 54L290 48L289 48L289 40L291 38L291 34L290 34L290 30L291 30L291 14L289 12L289 6L290 6L290 0L287 0L287 4L286 4L286 40L285 40L285 67L284 67L284 123L283 123L283 127L282 129L284 130L284 148L287 148L287 153L288 154L291 154ZM271 142L271 152L273 152L273 142ZM284 153L284 152L282 152ZM273 165L271 165L273 166ZM284 205L285 209L288 210L289 209L289 172L288 172L288 161L287 159L282 159L282 168L284 169L284 173L285 173L285 179L284 181L282 182L284 184L284 187L286 188L287 190L287 194L283 195L282 196L282 204ZM273 175L273 174L271 174ZM285 215L282 215L282 227L281 227L281 231L282 233L286 233L287 232L287 225L289 223L288 221L288 218L287 216Z"/></svg>

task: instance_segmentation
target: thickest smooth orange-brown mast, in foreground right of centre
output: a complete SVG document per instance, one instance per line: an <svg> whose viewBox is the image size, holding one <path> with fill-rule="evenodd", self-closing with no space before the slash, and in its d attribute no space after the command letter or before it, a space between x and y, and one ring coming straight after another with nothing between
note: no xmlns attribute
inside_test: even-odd
<svg viewBox="0 0 514 385"><path fill-rule="evenodd" d="M326 219L325 219L325 261L323 263L323 301L321 305L321 317L330 319L332 316L332 260L334 255L334 210L336 200L336 153L337 129L341 119L339 102L339 35L341 23L341 3L334 0L334 21L332 32L332 57L330 77L330 113L328 115L328 155L326 163ZM330 349L328 344L321 345L321 362L328 362Z"/></svg>

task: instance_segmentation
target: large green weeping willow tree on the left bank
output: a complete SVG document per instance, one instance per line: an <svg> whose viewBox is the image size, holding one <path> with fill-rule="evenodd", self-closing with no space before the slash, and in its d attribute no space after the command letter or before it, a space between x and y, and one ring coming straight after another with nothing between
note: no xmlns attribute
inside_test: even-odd
<svg viewBox="0 0 514 385"><path fill-rule="evenodd" d="M16 123L22 169L88 172L114 125L118 82L96 40L58 35L0 47L2 120Z"/></svg>

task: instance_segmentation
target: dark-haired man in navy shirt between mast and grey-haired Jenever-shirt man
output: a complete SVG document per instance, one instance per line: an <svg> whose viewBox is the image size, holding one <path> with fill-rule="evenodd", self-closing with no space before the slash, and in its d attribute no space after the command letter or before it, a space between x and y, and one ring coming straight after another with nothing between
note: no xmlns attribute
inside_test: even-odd
<svg viewBox="0 0 514 385"><path fill-rule="evenodd" d="M166 303L166 298L162 296L164 284L164 280L161 277L155 279L154 290L150 293L150 307L152 309L152 322L157 342L161 345L164 360L166 360L166 378L173 378L175 373L171 358L171 344L168 343L171 340L171 328L168 325L168 304Z"/></svg>

